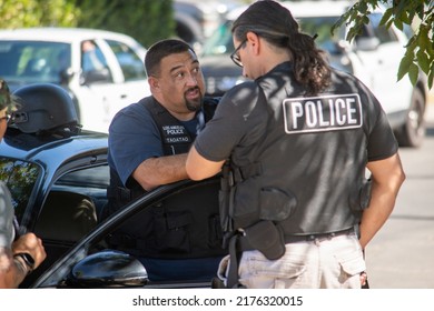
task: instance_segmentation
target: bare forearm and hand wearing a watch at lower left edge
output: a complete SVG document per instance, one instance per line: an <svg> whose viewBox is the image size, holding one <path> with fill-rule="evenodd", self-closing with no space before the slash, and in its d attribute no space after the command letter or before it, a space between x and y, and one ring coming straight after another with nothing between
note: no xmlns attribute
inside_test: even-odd
<svg viewBox="0 0 434 311"><path fill-rule="evenodd" d="M24 260L16 255L28 253L34 260L33 269L38 268L47 254L42 241L33 233L27 233L12 243L12 249L0 247L0 289L12 289L24 280L32 271Z"/></svg>

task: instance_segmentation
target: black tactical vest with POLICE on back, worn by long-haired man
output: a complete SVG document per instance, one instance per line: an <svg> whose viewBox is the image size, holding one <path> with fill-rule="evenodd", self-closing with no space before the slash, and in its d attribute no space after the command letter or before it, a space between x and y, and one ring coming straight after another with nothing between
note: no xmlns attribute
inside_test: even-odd
<svg viewBox="0 0 434 311"><path fill-rule="evenodd" d="M285 129L285 126L288 126L288 120L284 120L284 118L295 117L283 116L285 113L283 106L290 104L285 100L303 98L303 89L292 84L288 80L287 74L279 73L266 76L257 81L258 99L256 104L267 107L267 130L249 153L249 156L255 156L250 157L255 158L255 161L244 167L237 167L234 164L237 159L231 159L224 169L226 178L223 180L223 192L226 192L226 195L224 195L225 200L221 201L220 210L220 214L225 215L223 219L224 231L247 229L266 220L277 224L285 235L335 232L356 225L362 210L368 204L369 183L366 179L359 178L364 175L365 168L363 146L366 143L366 138L364 130L361 128L327 132L325 129L322 132L323 129L319 129L315 130L316 132L308 132L312 129L303 129L304 132L288 132ZM275 86L282 87L276 90ZM351 97L348 93L356 91L344 83L339 88L342 90L337 91L342 92L343 99ZM315 109L323 104L320 101L314 102ZM302 110L296 110L297 113L302 114L299 111ZM324 118L320 116L323 112L325 111L318 112L319 118ZM308 118L310 117L309 114ZM338 117L341 118L341 116ZM308 126L317 126L313 121L310 122L310 120L317 120L315 118L312 117L307 120L309 121ZM307 121L304 120L304 122ZM335 120L328 121L328 124L334 122ZM323 123L325 124L326 121L323 120ZM310 173L309 158L316 159L313 156L315 152L328 156L331 153L327 148L338 150L339 144L344 149L352 146L347 152L357 159L354 161L354 167L344 167L347 163L345 159L336 157L332 159L335 161L335 165L328 165L335 167L335 170L324 171L322 175L317 172ZM300 152L305 151L299 150L309 150L312 153L302 154ZM341 152L341 154L345 154L345 152ZM339 180L341 170L346 170L345 175L349 175L347 180L343 178ZM326 187L327 182L331 182L335 190L331 191L331 188ZM317 183L324 183L324 187ZM315 187L318 192L325 189L324 191L329 193L329 198L316 200L316 197L307 194L312 193L307 191L309 187ZM320 197L320 194L317 195Z"/></svg>

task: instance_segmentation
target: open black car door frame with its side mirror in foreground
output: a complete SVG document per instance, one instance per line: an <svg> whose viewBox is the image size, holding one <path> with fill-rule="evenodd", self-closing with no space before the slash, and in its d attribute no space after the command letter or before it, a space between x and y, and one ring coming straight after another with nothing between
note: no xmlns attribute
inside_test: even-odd
<svg viewBox="0 0 434 311"><path fill-rule="evenodd" d="M108 248L106 241L116 228L164 200L183 193L195 195L204 188L218 185L219 180L213 178L200 182L185 180L157 188L99 224L30 288L210 288L211 280L150 282L146 268L135 257Z"/></svg>

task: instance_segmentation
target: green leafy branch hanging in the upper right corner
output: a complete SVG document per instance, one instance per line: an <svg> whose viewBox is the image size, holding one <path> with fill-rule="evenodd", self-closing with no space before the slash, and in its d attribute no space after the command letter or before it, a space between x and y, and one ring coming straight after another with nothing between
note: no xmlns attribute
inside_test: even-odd
<svg viewBox="0 0 434 311"><path fill-rule="evenodd" d="M433 0L359 0L336 22L333 30L339 26L351 24L347 40L353 40L363 24L368 23L368 16L379 4L385 8L381 24L389 28L395 26L404 31L404 24L414 29L414 34L406 44L406 52L397 71L397 80L408 74L413 84L416 83L420 70L428 77L428 87L434 81L434 1Z"/></svg>

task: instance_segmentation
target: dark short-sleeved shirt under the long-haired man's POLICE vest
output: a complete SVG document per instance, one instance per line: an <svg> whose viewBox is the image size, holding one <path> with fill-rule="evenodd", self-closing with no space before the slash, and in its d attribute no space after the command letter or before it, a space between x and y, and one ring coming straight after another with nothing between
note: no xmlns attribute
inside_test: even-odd
<svg viewBox="0 0 434 311"><path fill-rule="evenodd" d="M285 74L282 72L288 70L288 63L284 63L267 74L276 72ZM365 147L367 161L386 159L396 153L396 141L386 114L375 97L354 77L346 73L335 73L335 77L338 77L336 80L347 79L349 81L347 84L352 86L353 91L356 89L361 93L365 104L364 130L367 136L367 146ZM335 83L329 92L338 88L341 88L338 83ZM287 98L290 97L294 94L288 93ZM256 82L245 82L228 91L220 100L213 120L207 123L205 130L195 141L198 153L210 161L223 161L231 157L233 160L238 161L236 164L243 165L243 159L249 158L249 150L267 129L267 104L259 103ZM297 153L297 150L295 149L294 152ZM298 156L303 158L305 154L299 152Z"/></svg>

